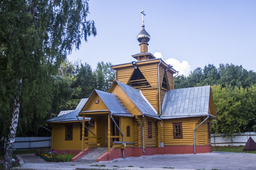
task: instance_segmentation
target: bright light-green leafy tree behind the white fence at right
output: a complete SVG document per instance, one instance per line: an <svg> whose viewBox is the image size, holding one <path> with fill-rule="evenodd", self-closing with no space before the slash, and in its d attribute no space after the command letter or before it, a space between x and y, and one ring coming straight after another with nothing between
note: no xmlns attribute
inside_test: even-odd
<svg viewBox="0 0 256 170"><path fill-rule="evenodd" d="M229 136L253 129L256 123L255 92L255 85L248 89L215 85L212 93L219 122L213 125L212 132Z"/></svg>

